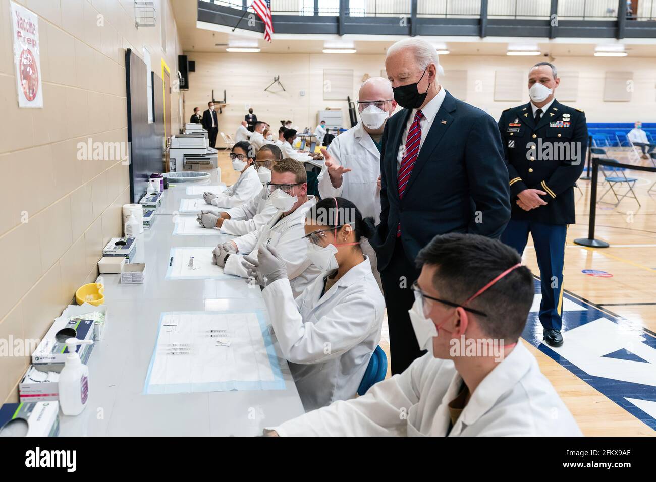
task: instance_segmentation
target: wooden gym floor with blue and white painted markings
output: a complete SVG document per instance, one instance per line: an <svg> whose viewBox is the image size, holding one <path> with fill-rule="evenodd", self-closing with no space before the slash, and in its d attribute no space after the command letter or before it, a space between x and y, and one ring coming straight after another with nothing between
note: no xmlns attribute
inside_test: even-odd
<svg viewBox="0 0 656 482"><path fill-rule="evenodd" d="M627 161L625 152L614 151L609 155L620 162L652 167L649 160ZM232 184L237 180L238 174L232 170L227 151L220 151L219 167L223 182ZM575 190L577 223L569 226L565 247L564 287L569 301L564 303L564 320L565 324L575 317L579 320L583 309L589 316L576 321L575 324L583 324L571 332L579 331L583 338L569 340L570 333L564 329L563 348L569 349L568 353L579 354L555 353L540 344L542 327L537 313L532 313L525 332L535 332L535 338L528 336L522 340L584 435L656 435L656 188L651 195L647 193L656 182L656 174L625 173L638 178L635 190L642 206L638 207L628 197L617 207L597 205L595 237L610 243L608 248L588 249L573 243L574 239L588 235L590 181L579 180L582 192ZM600 182L598 195L604 191ZM614 202L613 195L608 193L604 201ZM530 238L523 262L539 275ZM594 277L583 270L605 271L612 277ZM600 327L604 329L587 325L588 321L598 323L598 317L613 323L602 323ZM633 336L633 342L623 341L618 345L617 336L604 331L608 327L628 333ZM592 331L586 334L582 331L586 328ZM579 339L583 342L577 347ZM386 321L380 346L389 358ZM578 357L577 362L571 362L567 356Z"/></svg>

